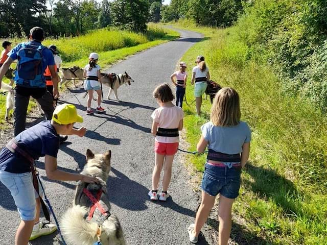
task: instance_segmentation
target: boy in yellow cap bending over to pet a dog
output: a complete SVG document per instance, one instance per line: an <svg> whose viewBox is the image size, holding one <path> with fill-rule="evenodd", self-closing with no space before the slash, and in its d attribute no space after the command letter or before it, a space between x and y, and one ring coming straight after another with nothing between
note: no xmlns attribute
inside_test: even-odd
<svg viewBox="0 0 327 245"><path fill-rule="evenodd" d="M53 224L39 222L41 199L34 160L45 156L45 173L51 180L98 182L94 177L57 169L59 134L85 135L84 127L73 128L75 122L83 122L75 106L62 104L55 109L51 121L42 121L21 132L0 152L0 181L10 190L21 218L15 245L27 245L29 240L57 230Z"/></svg>

